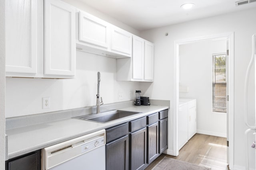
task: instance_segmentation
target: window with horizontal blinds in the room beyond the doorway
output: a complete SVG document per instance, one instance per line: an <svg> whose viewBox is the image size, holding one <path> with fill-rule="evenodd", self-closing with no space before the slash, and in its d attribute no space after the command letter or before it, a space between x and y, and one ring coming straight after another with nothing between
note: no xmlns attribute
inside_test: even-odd
<svg viewBox="0 0 256 170"><path fill-rule="evenodd" d="M226 54L212 55L212 111L226 113Z"/></svg>

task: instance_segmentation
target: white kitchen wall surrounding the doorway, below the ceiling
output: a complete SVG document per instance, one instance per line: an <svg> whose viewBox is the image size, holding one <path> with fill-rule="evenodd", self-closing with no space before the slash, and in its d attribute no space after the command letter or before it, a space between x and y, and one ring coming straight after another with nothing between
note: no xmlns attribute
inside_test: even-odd
<svg viewBox="0 0 256 170"><path fill-rule="evenodd" d="M256 9L225 14L201 20L143 31L141 36L154 42L154 78L152 84L142 89L145 96L171 100L173 106L173 44L175 40L218 33L234 32L234 165L245 166L243 118L243 89L246 67L251 55L251 36L256 33ZM169 33L165 36L165 33ZM250 101L250 100L249 100ZM253 100L254 101L254 100ZM170 117L172 117L172 110ZM169 119L172 125L172 120ZM172 126L169 126L168 147L172 150ZM254 160L253 160L254 159ZM255 158L251 158L255 162ZM255 164L255 163L254 163Z"/></svg>

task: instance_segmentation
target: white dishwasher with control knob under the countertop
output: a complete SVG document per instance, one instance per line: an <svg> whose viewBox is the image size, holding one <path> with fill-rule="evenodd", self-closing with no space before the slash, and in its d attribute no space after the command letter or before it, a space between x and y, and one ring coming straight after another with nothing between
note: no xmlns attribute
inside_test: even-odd
<svg viewBox="0 0 256 170"><path fill-rule="evenodd" d="M42 149L42 170L105 170L105 129Z"/></svg>

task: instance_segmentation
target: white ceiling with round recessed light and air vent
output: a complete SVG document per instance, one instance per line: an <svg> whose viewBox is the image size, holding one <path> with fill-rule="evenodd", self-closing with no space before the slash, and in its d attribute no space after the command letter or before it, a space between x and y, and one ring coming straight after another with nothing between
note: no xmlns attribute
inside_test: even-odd
<svg viewBox="0 0 256 170"><path fill-rule="evenodd" d="M139 31L256 8L256 2L236 6L238 0L81 0L88 6ZM194 3L192 9L180 8Z"/></svg>

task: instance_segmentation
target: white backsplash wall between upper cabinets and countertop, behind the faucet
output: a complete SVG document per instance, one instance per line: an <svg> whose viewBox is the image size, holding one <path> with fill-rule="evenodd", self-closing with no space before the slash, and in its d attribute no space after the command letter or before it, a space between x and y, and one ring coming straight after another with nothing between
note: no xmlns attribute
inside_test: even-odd
<svg viewBox="0 0 256 170"><path fill-rule="evenodd" d="M95 106L98 71L104 104L128 101L129 92L135 96L138 82L116 81L116 59L76 51L75 79L7 78L6 117ZM123 100L118 100L118 92ZM50 97L50 109L42 109L42 97Z"/></svg>

